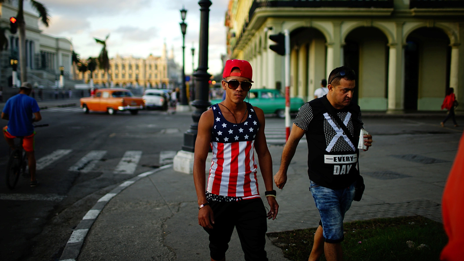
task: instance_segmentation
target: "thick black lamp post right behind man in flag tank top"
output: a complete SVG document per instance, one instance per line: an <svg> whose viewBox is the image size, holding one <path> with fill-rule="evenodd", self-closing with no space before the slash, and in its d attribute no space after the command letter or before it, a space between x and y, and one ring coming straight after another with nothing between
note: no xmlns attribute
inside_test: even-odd
<svg viewBox="0 0 464 261"><path fill-rule="evenodd" d="M194 152L195 140L197 138L198 121L200 121L201 114L207 110L211 105L209 103L208 80L211 75L208 71L208 25L209 25L209 7L211 6L210 0L200 0L200 47L198 53L198 69L193 74L196 81L195 100L192 105L196 110L192 113L193 124L190 125L190 130L184 133L184 145L182 150Z"/></svg>

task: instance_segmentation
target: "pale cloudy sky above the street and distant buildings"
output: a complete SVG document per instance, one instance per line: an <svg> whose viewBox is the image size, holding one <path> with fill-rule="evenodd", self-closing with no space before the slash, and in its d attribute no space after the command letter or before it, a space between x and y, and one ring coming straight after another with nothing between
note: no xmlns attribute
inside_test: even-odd
<svg viewBox="0 0 464 261"><path fill-rule="evenodd" d="M101 46L94 37L107 42L110 57L116 54L147 57L161 55L163 41L168 50L174 46L174 56L182 63L182 34L179 22L182 5L187 12L186 66L192 72L192 52L195 47L195 67L198 66L200 6L198 0L40 0L51 15L49 27L40 24L44 33L72 40L75 52L82 58L98 56ZM222 70L220 55L226 53L224 17L228 0L212 0L209 22L209 70ZM28 5L28 3L25 3ZM27 8L31 10L30 8Z"/></svg>

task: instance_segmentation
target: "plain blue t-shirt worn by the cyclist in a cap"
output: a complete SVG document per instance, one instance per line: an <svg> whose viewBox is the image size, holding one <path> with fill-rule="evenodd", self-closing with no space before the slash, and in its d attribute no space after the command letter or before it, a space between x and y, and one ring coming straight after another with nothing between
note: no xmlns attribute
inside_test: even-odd
<svg viewBox="0 0 464 261"><path fill-rule="evenodd" d="M26 94L16 94L6 101L3 113L8 114L8 132L13 136L28 136L34 132L32 113L39 112L37 101Z"/></svg>

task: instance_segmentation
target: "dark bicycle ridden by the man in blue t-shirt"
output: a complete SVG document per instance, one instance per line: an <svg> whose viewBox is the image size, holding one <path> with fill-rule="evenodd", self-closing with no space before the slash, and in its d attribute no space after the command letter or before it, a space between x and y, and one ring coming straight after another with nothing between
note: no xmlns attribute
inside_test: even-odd
<svg viewBox="0 0 464 261"><path fill-rule="evenodd" d="M48 124L35 125L34 128L47 127ZM6 186L9 189L14 189L18 183L19 176L25 178L30 177L29 171L26 172L27 168L27 155L23 148L24 137L19 136L19 144L15 145L13 151L10 153L8 164L6 165Z"/></svg>

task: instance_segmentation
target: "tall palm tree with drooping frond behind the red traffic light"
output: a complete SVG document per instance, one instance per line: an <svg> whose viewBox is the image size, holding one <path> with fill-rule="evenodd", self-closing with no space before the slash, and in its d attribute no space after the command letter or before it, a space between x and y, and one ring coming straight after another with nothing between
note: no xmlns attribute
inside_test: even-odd
<svg viewBox="0 0 464 261"><path fill-rule="evenodd" d="M4 3L6 0L0 0L0 3ZM29 0L32 7L37 10L39 13L39 18L42 23L48 27L50 22L50 16L48 14L47 8L44 4L35 1ZM19 27L19 67L21 69L21 82L27 81L27 72L26 72L26 21L24 20L24 0L18 0L18 14L16 15L16 20Z"/></svg>

